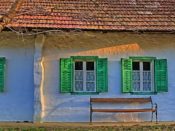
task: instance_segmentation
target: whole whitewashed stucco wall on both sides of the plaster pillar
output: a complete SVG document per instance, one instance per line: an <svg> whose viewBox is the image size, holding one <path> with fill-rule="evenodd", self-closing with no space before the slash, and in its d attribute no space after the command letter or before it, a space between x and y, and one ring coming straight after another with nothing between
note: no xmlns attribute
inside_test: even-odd
<svg viewBox="0 0 175 131"><path fill-rule="evenodd" d="M1 33L0 56L6 57L5 91L0 93L0 121L33 121L34 36ZM60 32L46 35L42 52L42 121L88 122L90 97L148 97L121 93L121 58L154 56L168 60L168 92L151 95L158 120L175 121L175 36L163 33ZM108 92L59 93L59 59L93 55L108 58ZM114 104L104 106L116 106ZM119 105L120 107L126 105ZM137 104L127 106L140 106ZM151 113L95 113L94 121L149 121Z"/></svg>

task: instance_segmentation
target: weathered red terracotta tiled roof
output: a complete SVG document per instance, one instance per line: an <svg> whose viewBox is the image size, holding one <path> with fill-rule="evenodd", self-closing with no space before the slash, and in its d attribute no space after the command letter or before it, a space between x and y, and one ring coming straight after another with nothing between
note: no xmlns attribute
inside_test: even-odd
<svg viewBox="0 0 175 131"><path fill-rule="evenodd" d="M0 14L14 1L1 2ZM175 0L24 0L7 26L174 31Z"/></svg>

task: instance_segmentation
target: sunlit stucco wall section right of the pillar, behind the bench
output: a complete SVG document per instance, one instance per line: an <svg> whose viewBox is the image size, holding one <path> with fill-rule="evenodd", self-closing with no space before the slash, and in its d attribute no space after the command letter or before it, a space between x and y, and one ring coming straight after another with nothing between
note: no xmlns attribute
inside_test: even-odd
<svg viewBox="0 0 175 131"><path fill-rule="evenodd" d="M93 55L108 58L108 92L99 95L59 93L59 59ZM159 121L175 121L175 37L160 33L95 33L52 34L43 51L43 121L88 122L90 97L149 97L121 92L121 58L154 56L168 60L168 92L151 95L158 104ZM116 106L114 104L104 106ZM119 106L140 106L119 105ZM149 121L151 113L94 113L94 121Z"/></svg>

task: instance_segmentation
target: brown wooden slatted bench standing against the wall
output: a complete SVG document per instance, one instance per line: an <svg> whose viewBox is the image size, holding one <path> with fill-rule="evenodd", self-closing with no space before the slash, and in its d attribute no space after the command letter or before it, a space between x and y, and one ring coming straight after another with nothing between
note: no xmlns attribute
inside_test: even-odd
<svg viewBox="0 0 175 131"><path fill-rule="evenodd" d="M141 103L146 104L150 103L148 108L127 108L127 109L109 109L109 108L94 108L93 103L118 103L118 104L132 104L132 103ZM153 113L156 115L157 122L157 104L152 102L152 98L90 98L90 122L92 122L92 113L93 112L106 112L106 113L134 113L134 112L152 112L151 121L153 121Z"/></svg>

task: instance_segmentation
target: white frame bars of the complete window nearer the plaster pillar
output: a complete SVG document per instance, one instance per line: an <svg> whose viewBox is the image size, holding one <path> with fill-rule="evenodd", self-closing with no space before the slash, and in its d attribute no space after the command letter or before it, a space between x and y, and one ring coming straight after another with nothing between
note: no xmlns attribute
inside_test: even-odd
<svg viewBox="0 0 175 131"><path fill-rule="evenodd" d="M75 89L75 62L83 62L83 90L82 91L76 91ZM95 76L95 80L94 80L94 84L95 84L95 90L94 91L87 91L86 88L86 73L88 72L86 70L86 62L94 62L94 76ZM74 64L73 64L73 72L74 72L74 76L73 76L73 91L74 92L96 92L96 62L93 60L75 60Z"/></svg>

